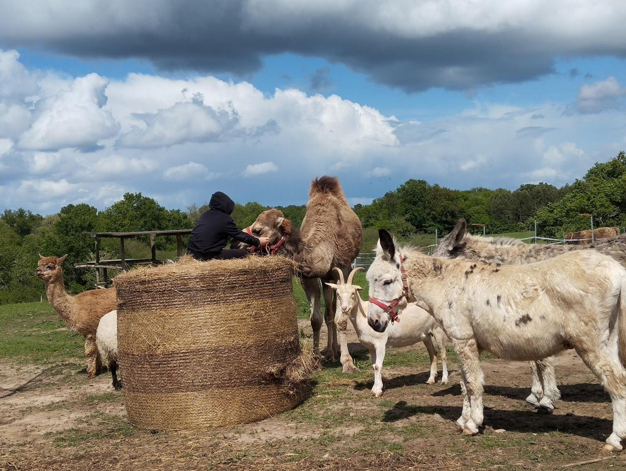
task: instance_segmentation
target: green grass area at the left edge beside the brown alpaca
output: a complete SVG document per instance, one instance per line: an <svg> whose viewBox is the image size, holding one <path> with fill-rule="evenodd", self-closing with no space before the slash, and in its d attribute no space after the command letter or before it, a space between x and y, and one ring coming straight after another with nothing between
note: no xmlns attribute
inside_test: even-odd
<svg viewBox="0 0 626 471"><path fill-rule="evenodd" d="M0 306L0 357L49 363L85 355L85 341L69 331L48 302Z"/></svg>

